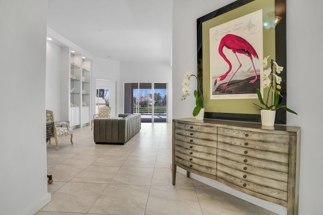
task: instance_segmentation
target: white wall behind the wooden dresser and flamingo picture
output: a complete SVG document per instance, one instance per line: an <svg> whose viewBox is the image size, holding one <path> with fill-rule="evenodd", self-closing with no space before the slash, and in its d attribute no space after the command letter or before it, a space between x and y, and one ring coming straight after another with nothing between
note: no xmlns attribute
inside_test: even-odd
<svg viewBox="0 0 323 215"><path fill-rule="evenodd" d="M194 108L193 96L181 100L181 82L185 72L196 74L196 19L232 2L205 0L201 4L198 0L173 1L173 118L191 117ZM302 128L299 214L307 215L321 214L322 211L323 144L319 133L323 115L318 94L323 80L319 65L323 29L318 27L323 20L322 7L321 1L287 0L287 104L298 113L298 116L287 113L287 124ZM183 105L187 108L177 108ZM222 186L205 178L200 180L208 181L212 186ZM285 208L279 205L228 190L279 214L286 213Z"/></svg>

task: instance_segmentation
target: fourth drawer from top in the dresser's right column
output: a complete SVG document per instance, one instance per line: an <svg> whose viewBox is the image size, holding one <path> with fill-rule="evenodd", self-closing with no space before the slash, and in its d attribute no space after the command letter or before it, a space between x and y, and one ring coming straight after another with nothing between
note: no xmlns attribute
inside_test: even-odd
<svg viewBox="0 0 323 215"><path fill-rule="evenodd" d="M285 164L285 163L278 163L278 162L273 162L271 160L248 157L248 156L245 156L244 154L241 155L230 151L218 149L217 158L219 159L220 157L234 160L235 162L238 162L241 164L254 166L256 168L263 168L267 170L288 173L288 164Z"/></svg>

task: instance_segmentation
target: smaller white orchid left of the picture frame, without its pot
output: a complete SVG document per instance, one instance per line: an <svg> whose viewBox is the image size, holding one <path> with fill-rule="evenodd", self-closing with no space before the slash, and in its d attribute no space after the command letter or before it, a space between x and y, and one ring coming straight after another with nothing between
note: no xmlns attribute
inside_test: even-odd
<svg viewBox="0 0 323 215"><path fill-rule="evenodd" d="M203 108L203 102L204 102L204 97L203 97L203 94L201 92L201 89L200 89L200 80L197 78L196 75L193 75L193 74L190 74L190 73L186 73L184 75L184 79L183 79L183 82L182 82L182 91L183 91L183 96L182 96L182 100L185 100L185 98L190 95L190 78L191 77L195 77L196 80L197 80L197 90L194 90L194 97L195 97L195 108L193 110L193 116L196 117L201 109Z"/></svg>

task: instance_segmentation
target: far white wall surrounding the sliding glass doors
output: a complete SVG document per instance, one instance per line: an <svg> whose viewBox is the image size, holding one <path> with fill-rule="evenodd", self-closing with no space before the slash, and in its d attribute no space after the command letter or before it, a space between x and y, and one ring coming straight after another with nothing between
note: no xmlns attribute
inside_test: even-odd
<svg viewBox="0 0 323 215"><path fill-rule="evenodd" d="M168 106L172 107L172 67L170 62L121 62L119 113L124 113L124 83L138 82L169 83ZM168 118L171 121L171 109L169 109Z"/></svg>

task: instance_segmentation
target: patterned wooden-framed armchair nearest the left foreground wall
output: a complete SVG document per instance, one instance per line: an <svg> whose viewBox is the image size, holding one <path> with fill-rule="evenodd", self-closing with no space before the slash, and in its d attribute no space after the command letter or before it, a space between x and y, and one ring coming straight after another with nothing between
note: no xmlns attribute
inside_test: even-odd
<svg viewBox="0 0 323 215"><path fill-rule="evenodd" d="M46 123L49 123L49 122L55 123L54 124L54 136L50 137L50 139L55 138L56 150L59 149L58 137L71 135L71 144L73 145L73 130L69 128L69 125L67 122L55 122L53 112L46 110ZM57 127L57 126L61 126L61 127ZM62 126L65 126L65 127L62 127ZM51 143L50 139L48 140L49 144Z"/></svg>

